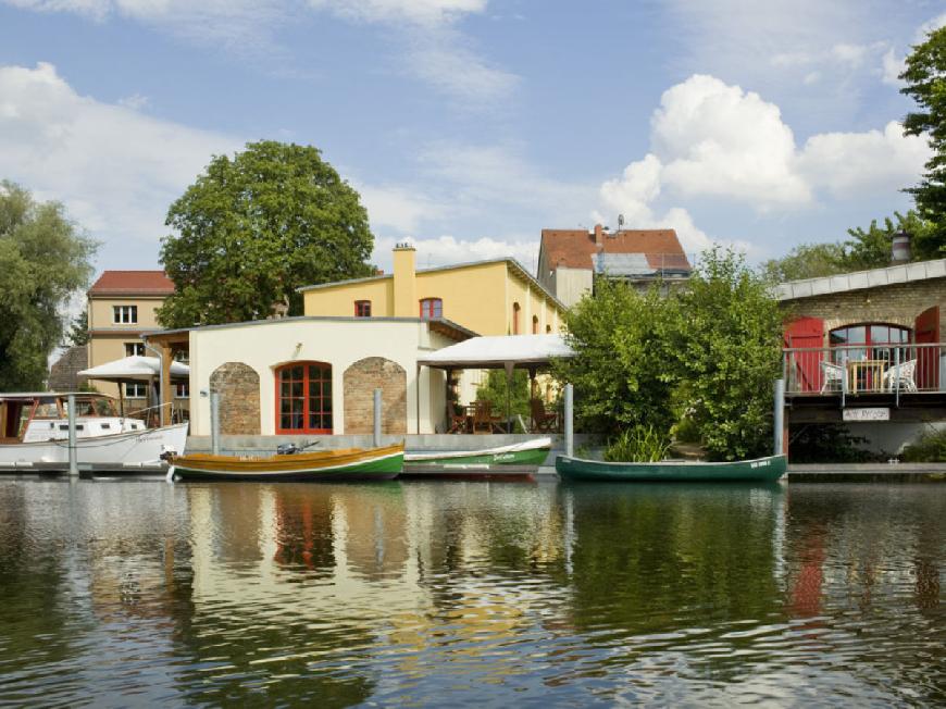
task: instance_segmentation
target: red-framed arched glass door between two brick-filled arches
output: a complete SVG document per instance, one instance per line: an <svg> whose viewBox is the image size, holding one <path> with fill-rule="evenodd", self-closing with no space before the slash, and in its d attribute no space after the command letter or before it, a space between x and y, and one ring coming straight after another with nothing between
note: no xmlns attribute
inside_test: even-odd
<svg viewBox="0 0 946 709"><path fill-rule="evenodd" d="M332 433L332 365L292 362L276 369L276 433Z"/></svg>

